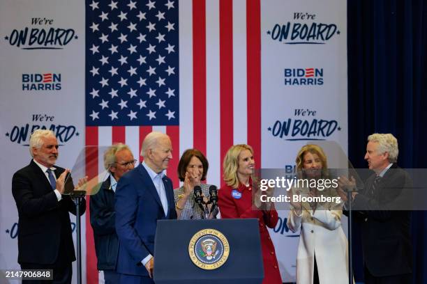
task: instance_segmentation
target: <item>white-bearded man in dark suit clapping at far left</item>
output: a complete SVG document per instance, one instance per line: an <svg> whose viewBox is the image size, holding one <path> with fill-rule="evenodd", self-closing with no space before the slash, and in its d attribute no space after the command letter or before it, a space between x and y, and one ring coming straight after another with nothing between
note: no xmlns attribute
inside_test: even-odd
<svg viewBox="0 0 427 284"><path fill-rule="evenodd" d="M54 166L58 142L52 131L33 132L29 150L33 157L29 166L17 171L12 179L19 214L18 262L22 269L53 269L52 283L71 283L75 252L68 212L76 214L76 208L70 196L62 195L69 170ZM70 179L68 182L72 184ZM83 200L80 212L85 209Z"/></svg>

